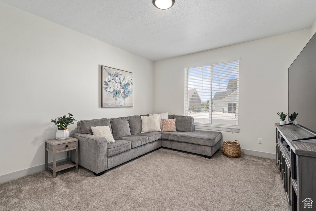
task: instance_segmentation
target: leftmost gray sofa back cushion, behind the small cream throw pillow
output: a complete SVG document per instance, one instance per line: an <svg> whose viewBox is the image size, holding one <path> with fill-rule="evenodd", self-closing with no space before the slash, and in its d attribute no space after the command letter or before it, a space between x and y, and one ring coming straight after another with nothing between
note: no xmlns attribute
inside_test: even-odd
<svg viewBox="0 0 316 211"><path fill-rule="evenodd" d="M90 135L93 135L91 127L97 127L97 126L109 126L111 133L111 122L110 119L95 119L95 120L80 120L77 122L77 127L79 133L88 133Z"/></svg>

